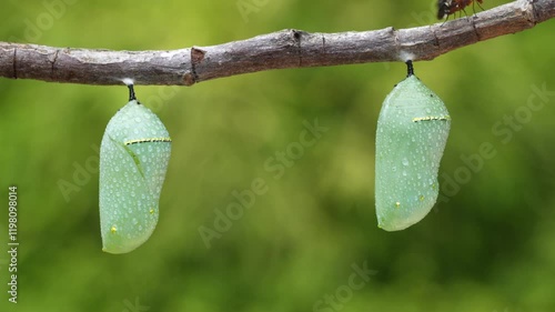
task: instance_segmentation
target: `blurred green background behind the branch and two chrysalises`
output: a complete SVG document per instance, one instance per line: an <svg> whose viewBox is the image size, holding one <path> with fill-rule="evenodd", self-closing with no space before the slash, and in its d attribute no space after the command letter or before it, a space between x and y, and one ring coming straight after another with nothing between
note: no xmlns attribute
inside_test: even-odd
<svg viewBox="0 0 555 312"><path fill-rule="evenodd" d="M54 2L3 1L0 40L164 50L286 28L436 22L435 0L245 0L260 6L248 20L238 1L74 0L53 17L43 3ZM53 22L29 36L41 14ZM548 21L415 63L453 123L440 173L446 200L401 232L377 229L373 193L377 114L403 63L137 87L173 151L158 228L124 255L101 252L98 172L73 175L98 169L95 149L127 89L0 79L0 311L555 311L554 33ZM274 179L264 163L315 119L329 131ZM471 171L462 159L483 144L495 155ZM206 248L200 227L213 229L214 210L256 178L268 192ZM78 190L64 198L60 181ZM3 251L9 185L19 193L17 304ZM350 294L353 264L376 273ZM335 305L315 306L326 295Z"/></svg>

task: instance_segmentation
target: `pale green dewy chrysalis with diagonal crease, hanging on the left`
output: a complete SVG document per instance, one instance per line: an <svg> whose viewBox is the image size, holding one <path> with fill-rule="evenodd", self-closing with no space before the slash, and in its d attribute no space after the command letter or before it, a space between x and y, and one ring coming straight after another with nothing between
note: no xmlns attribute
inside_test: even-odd
<svg viewBox="0 0 555 312"><path fill-rule="evenodd" d="M158 223L158 202L170 161L164 124L134 95L108 122L100 145L100 230L102 251L130 252Z"/></svg>

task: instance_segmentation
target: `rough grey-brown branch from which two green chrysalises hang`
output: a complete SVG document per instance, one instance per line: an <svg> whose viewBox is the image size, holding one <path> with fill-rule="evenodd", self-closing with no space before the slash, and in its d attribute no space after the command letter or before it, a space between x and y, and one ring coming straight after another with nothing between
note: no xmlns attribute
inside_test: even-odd
<svg viewBox="0 0 555 312"><path fill-rule="evenodd" d="M192 85L248 72L366 62L432 60L523 31L555 16L555 0L517 0L472 17L395 30L309 33L282 30L212 47L110 51L0 42L0 77L84 84Z"/></svg>

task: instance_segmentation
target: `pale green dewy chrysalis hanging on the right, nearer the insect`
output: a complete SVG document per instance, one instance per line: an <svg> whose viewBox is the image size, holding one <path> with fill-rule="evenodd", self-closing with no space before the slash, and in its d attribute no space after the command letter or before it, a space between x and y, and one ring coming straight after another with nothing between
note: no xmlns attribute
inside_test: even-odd
<svg viewBox="0 0 555 312"><path fill-rule="evenodd" d="M406 229L421 221L437 200L437 172L451 117L443 101L414 76L385 98L376 131L375 201L377 227Z"/></svg>

